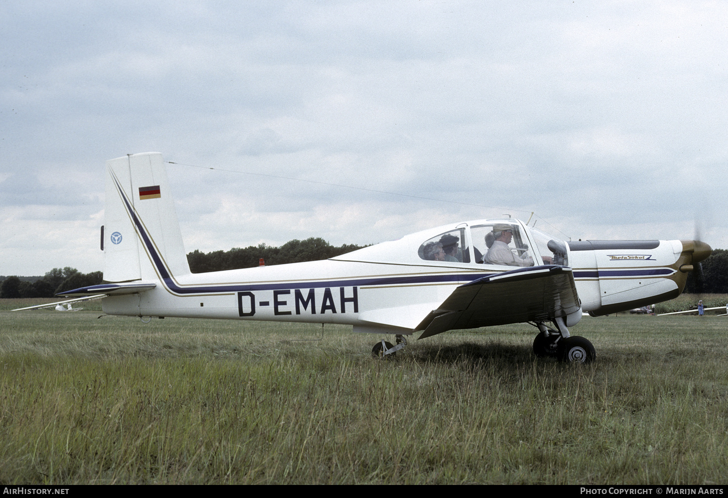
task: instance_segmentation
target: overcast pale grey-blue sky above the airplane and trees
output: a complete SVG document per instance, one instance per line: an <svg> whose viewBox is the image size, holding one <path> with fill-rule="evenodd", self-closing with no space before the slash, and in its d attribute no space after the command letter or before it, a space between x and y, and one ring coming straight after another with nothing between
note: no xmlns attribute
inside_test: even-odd
<svg viewBox="0 0 728 498"><path fill-rule="evenodd" d="M26 0L0 23L0 275L101 270L104 161L151 150L188 252L531 212L728 248L722 1Z"/></svg>

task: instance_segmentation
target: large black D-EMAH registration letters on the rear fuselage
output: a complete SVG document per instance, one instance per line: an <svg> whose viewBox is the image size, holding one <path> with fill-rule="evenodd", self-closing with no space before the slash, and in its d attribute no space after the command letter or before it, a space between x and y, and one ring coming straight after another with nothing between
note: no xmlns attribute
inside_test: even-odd
<svg viewBox="0 0 728 498"><path fill-rule="evenodd" d="M265 294L264 297L260 297ZM272 296L271 296L272 294ZM274 315L325 315L326 313L359 313L357 287L325 287L325 289L277 289L268 292L237 293L240 316L253 316L257 308L273 308Z"/></svg>

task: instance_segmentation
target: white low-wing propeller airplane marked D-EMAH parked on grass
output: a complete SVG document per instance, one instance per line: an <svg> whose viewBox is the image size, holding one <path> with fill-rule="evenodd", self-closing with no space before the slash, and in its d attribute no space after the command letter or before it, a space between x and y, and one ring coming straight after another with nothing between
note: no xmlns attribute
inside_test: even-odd
<svg viewBox="0 0 728 498"><path fill-rule="evenodd" d="M569 334L582 312L673 299L711 254L701 241L566 243L509 218L443 225L329 260L191 273L160 153L107 161L105 218L109 283L58 295L100 295L110 315L347 324L395 335L397 345L380 340L374 356L418 332L528 322L538 329L538 356L592 361L593 345Z"/></svg>

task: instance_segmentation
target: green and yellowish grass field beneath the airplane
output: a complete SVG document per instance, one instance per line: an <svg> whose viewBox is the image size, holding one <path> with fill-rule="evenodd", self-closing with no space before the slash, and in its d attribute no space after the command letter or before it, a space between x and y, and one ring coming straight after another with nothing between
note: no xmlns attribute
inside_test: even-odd
<svg viewBox="0 0 728 498"><path fill-rule="evenodd" d="M13 305L15 307L15 305ZM0 483L724 483L728 321L585 317L587 366L536 329L0 311Z"/></svg>

